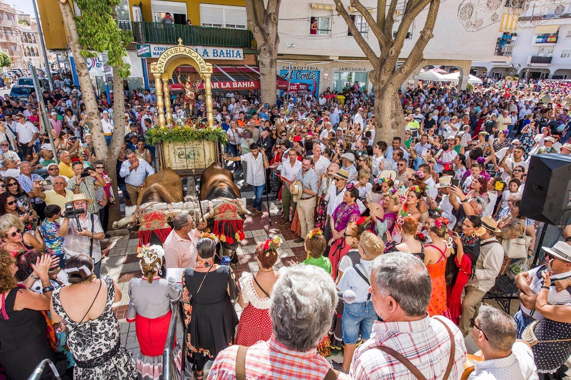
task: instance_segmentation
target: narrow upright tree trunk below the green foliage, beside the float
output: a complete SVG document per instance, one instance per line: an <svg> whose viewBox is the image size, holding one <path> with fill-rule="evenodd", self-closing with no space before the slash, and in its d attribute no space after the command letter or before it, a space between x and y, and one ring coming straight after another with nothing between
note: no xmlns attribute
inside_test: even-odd
<svg viewBox="0 0 571 380"><path fill-rule="evenodd" d="M111 229L114 220L122 218L121 209L119 207L119 189L117 187L117 173L115 165L119 151L123 145L123 137L125 135L125 92L123 91L123 79L119 76L117 67L113 67L113 122L115 128L113 130L113 138L111 144L107 147L106 156L101 157L105 161L107 175L111 178L111 189L115 197L115 203L109 205L109 223L107 228Z"/></svg>

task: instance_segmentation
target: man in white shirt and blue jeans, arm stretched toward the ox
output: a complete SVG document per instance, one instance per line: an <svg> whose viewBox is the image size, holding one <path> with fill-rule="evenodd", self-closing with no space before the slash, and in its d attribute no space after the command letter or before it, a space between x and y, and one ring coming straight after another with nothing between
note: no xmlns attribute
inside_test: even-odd
<svg viewBox="0 0 571 380"><path fill-rule="evenodd" d="M260 151L262 153L260 153ZM266 186L266 170L270 167L268 163L268 158L266 157L266 152L264 149L259 149L258 144L252 142L250 144L250 153L243 154L239 157L228 157L227 154L223 156L226 161L242 161L246 162L248 166L248 171L246 173L246 183L252 186L254 189L254 194L256 199L254 199L254 205L252 205L252 212L254 213L254 218L262 214L262 193L264 192L264 186Z"/></svg>

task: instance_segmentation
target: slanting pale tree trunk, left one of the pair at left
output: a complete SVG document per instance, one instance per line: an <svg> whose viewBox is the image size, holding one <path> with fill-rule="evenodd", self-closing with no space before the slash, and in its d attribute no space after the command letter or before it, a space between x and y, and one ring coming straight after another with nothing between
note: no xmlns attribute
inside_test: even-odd
<svg viewBox="0 0 571 380"><path fill-rule="evenodd" d="M82 100L85 103L87 111L87 124L91 135L93 136L93 146L98 157L107 156L107 146L105 145L105 137L101 126L101 119L97 102L95 100L95 92L91 85L89 70L87 70L87 62L81 54L82 46L79 44L79 33L77 24L75 24L74 14L71 11L71 5L67 0L59 0L59 9L62 12L63 24L66 27L67 45L75 59L75 70L79 79L79 87L82 89Z"/></svg>

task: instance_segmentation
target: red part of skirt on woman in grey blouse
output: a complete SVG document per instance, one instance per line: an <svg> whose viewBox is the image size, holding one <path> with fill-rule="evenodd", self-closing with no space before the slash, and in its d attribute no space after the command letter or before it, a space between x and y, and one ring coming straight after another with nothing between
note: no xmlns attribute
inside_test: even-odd
<svg viewBox="0 0 571 380"><path fill-rule="evenodd" d="M169 310L164 316L153 319L137 314L135 317L135 332L143 355L160 356L163 354L164 345L167 342L171 313Z"/></svg>

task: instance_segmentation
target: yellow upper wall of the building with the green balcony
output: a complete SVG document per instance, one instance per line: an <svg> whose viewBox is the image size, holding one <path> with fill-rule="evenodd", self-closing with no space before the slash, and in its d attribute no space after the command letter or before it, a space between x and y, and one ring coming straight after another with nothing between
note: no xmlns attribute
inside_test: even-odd
<svg viewBox="0 0 571 380"><path fill-rule="evenodd" d="M142 0L143 18L147 22L152 22L151 0ZM200 25L200 3L223 4L244 6L244 0L188 0L187 17L193 25ZM129 0L129 11L132 15L132 6L138 6L138 0ZM65 49L67 47L66 33L63 26L62 14L59 11L58 0L42 0L38 2L39 16L42 21L42 28L47 49ZM73 9L73 7L72 7Z"/></svg>

